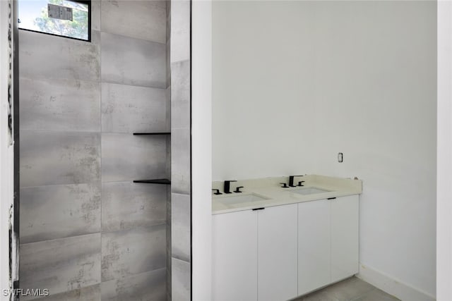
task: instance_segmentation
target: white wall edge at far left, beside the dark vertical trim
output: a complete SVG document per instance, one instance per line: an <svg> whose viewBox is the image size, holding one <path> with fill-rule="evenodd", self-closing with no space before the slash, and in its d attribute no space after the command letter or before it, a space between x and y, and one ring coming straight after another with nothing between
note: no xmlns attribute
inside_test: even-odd
<svg viewBox="0 0 452 301"><path fill-rule="evenodd" d="M0 1L0 300L9 280L9 227L13 204L13 146L8 135L8 1Z"/></svg>

